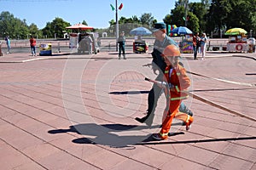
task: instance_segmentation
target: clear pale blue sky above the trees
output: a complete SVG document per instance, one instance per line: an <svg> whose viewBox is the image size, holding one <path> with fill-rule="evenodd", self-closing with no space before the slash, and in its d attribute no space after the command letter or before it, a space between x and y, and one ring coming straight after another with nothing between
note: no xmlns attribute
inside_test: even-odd
<svg viewBox="0 0 256 170"><path fill-rule="evenodd" d="M201 0L190 0L201 2ZM0 0L0 11L9 11L15 18L26 20L28 25L34 23L39 29L47 22L59 17L71 25L85 20L89 26L106 28L108 21L115 20L115 12L110 3L115 6L115 0ZM174 0L118 0L118 5L124 4L119 10L119 17L140 17L144 13L151 13L159 22L170 14L174 8Z"/></svg>

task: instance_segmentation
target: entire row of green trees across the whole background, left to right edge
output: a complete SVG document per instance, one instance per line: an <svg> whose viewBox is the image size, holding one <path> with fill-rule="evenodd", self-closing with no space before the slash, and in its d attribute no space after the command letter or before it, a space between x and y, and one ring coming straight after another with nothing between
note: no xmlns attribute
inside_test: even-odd
<svg viewBox="0 0 256 170"><path fill-rule="evenodd" d="M212 3L209 3L212 2ZM185 4L188 3L187 12L185 11ZM200 31L218 33L233 27L244 28L247 32L253 31L256 33L256 0L201 0L201 3L189 3L189 0L177 0L175 8L170 14L166 14L163 21L168 25L185 26L191 31ZM183 20L185 16L188 20ZM119 18L119 30L129 32L131 29L144 26L149 29L157 20L152 14L144 13L141 17L132 16L131 18ZM113 36L115 31L115 20L110 20L108 29L101 29L107 31L108 35ZM87 26L85 20L82 24ZM13 14L8 11L3 11L0 14L0 37L9 35L13 39L27 38L30 35L34 37L63 37L65 31L69 32L66 27L71 26L70 23L55 18L55 20L46 23L44 29L39 30L38 26L31 24L27 26L26 20L15 18ZM94 29L93 31L96 31ZM98 29L97 29L98 31Z"/></svg>

